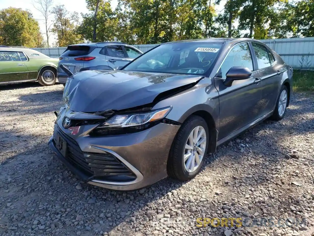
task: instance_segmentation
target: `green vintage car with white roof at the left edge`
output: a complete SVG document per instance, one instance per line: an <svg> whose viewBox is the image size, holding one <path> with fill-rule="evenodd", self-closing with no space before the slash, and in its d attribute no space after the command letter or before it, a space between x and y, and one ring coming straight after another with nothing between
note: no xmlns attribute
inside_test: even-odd
<svg viewBox="0 0 314 236"><path fill-rule="evenodd" d="M0 46L0 85L29 81L53 85L58 61L34 49Z"/></svg>

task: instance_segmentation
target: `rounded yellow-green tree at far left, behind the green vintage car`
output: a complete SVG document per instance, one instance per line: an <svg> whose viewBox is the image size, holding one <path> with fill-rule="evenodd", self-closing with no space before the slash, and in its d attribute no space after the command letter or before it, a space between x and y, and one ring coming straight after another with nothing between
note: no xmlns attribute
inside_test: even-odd
<svg viewBox="0 0 314 236"><path fill-rule="evenodd" d="M38 22L29 11L12 7L0 11L0 44L36 48L42 43Z"/></svg>

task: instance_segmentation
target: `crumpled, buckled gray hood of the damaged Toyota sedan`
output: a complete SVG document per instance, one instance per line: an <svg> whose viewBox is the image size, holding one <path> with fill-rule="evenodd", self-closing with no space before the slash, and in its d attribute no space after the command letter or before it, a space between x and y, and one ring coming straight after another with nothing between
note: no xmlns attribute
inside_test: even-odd
<svg viewBox="0 0 314 236"><path fill-rule="evenodd" d="M63 100L72 111L122 110L154 101L170 89L198 81L202 76L137 71L86 70L69 78Z"/></svg>

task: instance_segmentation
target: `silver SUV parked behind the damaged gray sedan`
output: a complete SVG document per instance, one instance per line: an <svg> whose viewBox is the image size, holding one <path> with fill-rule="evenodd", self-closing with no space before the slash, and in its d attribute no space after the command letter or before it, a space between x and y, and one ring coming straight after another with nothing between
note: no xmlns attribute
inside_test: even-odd
<svg viewBox="0 0 314 236"><path fill-rule="evenodd" d="M68 75L60 68L64 65L73 74L82 70L115 70L143 54L126 43L96 42L69 45L58 63L58 82L65 84Z"/></svg>

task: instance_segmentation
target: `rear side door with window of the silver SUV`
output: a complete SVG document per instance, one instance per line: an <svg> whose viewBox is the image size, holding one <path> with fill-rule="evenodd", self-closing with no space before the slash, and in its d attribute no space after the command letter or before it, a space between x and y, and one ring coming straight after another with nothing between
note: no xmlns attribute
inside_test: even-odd
<svg viewBox="0 0 314 236"><path fill-rule="evenodd" d="M112 69L116 69L119 66L124 66L129 63L129 60L124 54L121 45L110 45L106 47L106 61Z"/></svg>

